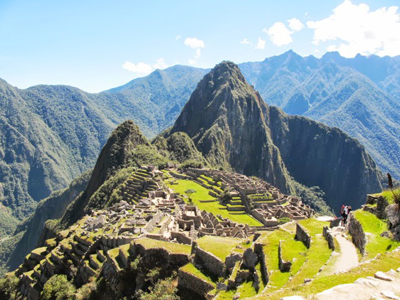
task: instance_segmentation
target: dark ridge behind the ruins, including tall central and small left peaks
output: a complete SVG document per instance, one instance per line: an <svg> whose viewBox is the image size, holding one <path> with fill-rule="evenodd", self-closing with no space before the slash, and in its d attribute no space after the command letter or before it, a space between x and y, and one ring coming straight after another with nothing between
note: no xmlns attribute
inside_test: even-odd
<svg viewBox="0 0 400 300"><path fill-rule="evenodd" d="M18 228L25 232L9 266L19 265L38 240L43 244L91 211L115 203L114 191L133 168L165 167L171 161L257 176L325 212L327 204L337 208L336 199L359 207L367 193L382 188L381 172L357 140L268 106L237 65L223 62L200 81L174 126L152 143L132 121L118 126L94 170L43 200ZM315 193L316 186L322 195Z"/></svg>

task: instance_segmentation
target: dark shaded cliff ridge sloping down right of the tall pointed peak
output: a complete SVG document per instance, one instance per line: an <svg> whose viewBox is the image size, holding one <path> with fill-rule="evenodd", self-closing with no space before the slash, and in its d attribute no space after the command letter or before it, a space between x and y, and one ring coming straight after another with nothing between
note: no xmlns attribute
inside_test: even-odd
<svg viewBox="0 0 400 300"><path fill-rule="evenodd" d="M319 186L330 207L342 203L360 207L366 194L382 189L381 173L371 156L340 129L310 119L289 116L269 107L268 127L274 144L293 178Z"/></svg>

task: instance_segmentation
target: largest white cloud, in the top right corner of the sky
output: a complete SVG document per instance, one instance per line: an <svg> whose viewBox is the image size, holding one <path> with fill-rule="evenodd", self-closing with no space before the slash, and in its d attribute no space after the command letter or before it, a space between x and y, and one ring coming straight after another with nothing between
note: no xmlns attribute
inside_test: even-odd
<svg viewBox="0 0 400 300"><path fill-rule="evenodd" d="M355 5L345 0L332 14L320 21L307 22L314 29L313 43L334 41L328 51L339 51L345 57L377 54L400 54L400 15L398 7L370 11L366 4Z"/></svg>

